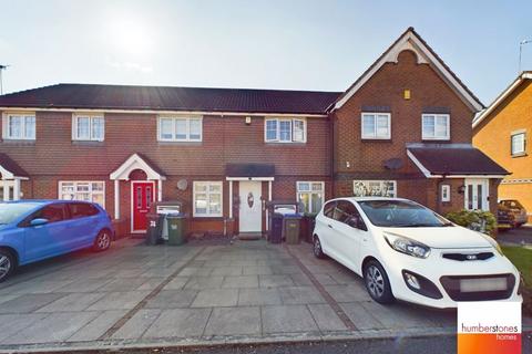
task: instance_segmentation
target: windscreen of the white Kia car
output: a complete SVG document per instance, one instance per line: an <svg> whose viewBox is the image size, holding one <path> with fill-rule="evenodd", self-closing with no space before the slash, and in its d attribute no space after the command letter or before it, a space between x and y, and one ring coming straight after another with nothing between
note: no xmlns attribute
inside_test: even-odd
<svg viewBox="0 0 532 354"><path fill-rule="evenodd" d="M372 225L388 228L452 226L432 210L409 200L365 200L358 202Z"/></svg>

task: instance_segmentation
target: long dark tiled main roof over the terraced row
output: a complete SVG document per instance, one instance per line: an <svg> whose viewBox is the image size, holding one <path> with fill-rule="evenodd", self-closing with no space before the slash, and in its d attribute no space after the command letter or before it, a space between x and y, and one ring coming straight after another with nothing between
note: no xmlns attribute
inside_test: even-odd
<svg viewBox="0 0 532 354"><path fill-rule="evenodd" d="M339 92L57 84L0 96L0 107L326 114Z"/></svg>

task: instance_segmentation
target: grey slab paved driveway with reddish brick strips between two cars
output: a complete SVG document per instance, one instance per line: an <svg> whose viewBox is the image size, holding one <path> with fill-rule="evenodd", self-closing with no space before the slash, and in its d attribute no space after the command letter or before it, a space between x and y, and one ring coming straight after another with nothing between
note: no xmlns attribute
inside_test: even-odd
<svg viewBox="0 0 532 354"><path fill-rule="evenodd" d="M456 332L454 312L372 302L308 243L139 243L30 266L1 284L0 350Z"/></svg>

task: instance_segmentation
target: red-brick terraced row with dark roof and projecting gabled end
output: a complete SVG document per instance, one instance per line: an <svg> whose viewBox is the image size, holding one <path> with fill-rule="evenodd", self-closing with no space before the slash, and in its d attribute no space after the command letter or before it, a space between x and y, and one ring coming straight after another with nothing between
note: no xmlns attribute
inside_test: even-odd
<svg viewBox="0 0 532 354"><path fill-rule="evenodd" d="M58 84L0 97L4 200L88 199L143 232L263 232L265 205L382 195L492 209L508 173L471 146L481 102L413 29L345 92Z"/></svg>

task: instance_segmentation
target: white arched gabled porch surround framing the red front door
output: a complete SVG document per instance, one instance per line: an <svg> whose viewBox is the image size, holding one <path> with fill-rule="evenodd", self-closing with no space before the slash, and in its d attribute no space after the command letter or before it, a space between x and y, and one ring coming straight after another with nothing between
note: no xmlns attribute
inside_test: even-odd
<svg viewBox="0 0 532 354"><path fill-rule="evenodd" d="M114 180L114 218L120 219L120 180L130 180L130 175L135 169L140 169L146 174L147 180L157 181L157 200L163 199L163 180L166 179L164 171L153 162L140 153L131 155L123 162L110 178Z"/></svg>

